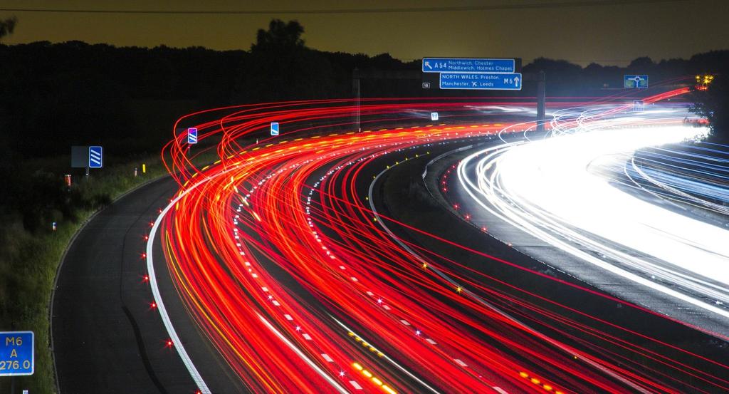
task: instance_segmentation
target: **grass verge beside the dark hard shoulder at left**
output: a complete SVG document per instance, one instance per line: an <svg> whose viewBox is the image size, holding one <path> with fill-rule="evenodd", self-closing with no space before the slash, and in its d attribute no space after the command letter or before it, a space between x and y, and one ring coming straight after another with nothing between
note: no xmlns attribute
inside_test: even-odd
<svg viewBox="0 0 729 394"><path fill-rule="evenodd" d="M214 161L214 151L199 155L195 163ZM63 161L63 158L58 160ZM67 163L67 161L65 162ZM55 275L63 253L74 234L95 212L133 188L167 174L158 155L120 162L92 171L89 179L74 179L69 193L77 193L84 204L74 206L73 215L59 217L56 231L51 223L42 231L26 231L17 215L6 215L0 227L0 331L34 331L35 371L16 376L15 390L55 393L55 371L50 348L49 307ZM141 173L141 163L147 165ZM134 168L138 175L134 176ZM82 177L83 178L83 177ZM9 393L11 378L0 377L0 393Z"/></svg>

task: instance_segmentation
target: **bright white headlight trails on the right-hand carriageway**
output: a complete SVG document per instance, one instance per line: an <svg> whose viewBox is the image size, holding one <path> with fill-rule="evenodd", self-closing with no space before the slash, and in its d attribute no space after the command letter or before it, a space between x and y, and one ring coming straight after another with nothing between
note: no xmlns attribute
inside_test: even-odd
<svg viewBox="0 0 729 394"><path fill-rule="evenodd" d="M553 138L464 158L461 186L484 209L565 252L729 317L718 306L729 302L729 231L650 204L604 176L622 169L635 150L682 142L706 129L671 125L677 116L666 111L608 120L596 120L595 109L572 113L572 120L555 114Z"/></svg>

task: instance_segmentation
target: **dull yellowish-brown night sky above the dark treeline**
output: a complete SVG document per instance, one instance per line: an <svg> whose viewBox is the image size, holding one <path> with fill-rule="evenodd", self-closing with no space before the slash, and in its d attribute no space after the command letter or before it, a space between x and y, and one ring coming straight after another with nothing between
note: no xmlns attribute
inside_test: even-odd
<svg viewBox="0 0 729 394"><path fill-rule="evenodd" d="M576 4L569 6L569 4ZM539 4L543 7L533 7ZM599 5L601 4L601 5ZM606 5L607 4L607 5ZM342 9L471 7L437 12L334 12ZM503 7L507 6L507 7ZM104 14L1 9L265 10L256 15ZM279 10L328 10L327 14ZM81 40L117 46L202 46L248 50L272 18L298 20L308 47L325 51L428 56L545 56L586 66L625 66L639 56L688 58L729 49L729 0L2 0L0 19L15 16L5 44Z"/></svg>

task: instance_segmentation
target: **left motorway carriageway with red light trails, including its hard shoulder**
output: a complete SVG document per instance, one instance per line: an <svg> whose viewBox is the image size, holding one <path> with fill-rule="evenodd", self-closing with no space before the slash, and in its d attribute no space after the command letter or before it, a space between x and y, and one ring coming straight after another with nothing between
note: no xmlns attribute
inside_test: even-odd
<svg viewBox="0 0 729 394"><path fill-rule="evenodd" d="M175 183L122 199L74 242L54 304L61 392L93 387L79 386L69 365L108 392L123 386L93 378L104 368L163 393L729 390L720 334L553 270L424 188L455 173L433 162L423 174L434 158L521 139L534 127L523 104L364 101L361 133L349 131L351 104L179 120L175 130L195 125L219 161L195 168L176 134L165 147ZM441 123L426 120L432 110ZM561 116L562 127L587 123ZM271 121L281 136L238 144ZM61 313L79 300L93 309ZM118 337L106 338L114 328ZM73 346L86 336L93 345ZM88 366L93 352L120 362Z"/></svg>

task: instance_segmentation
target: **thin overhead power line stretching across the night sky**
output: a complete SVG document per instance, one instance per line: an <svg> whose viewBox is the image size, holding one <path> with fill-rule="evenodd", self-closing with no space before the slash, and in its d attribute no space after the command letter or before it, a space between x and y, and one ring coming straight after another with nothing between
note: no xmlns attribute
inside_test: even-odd
<svg viewBox="0 0 729 394"><path fill-rule="evenodd" d="M527 4L491 4L445 7L391 7L341 9L63 9L63 8L0 8L4 12L57 12L76 14L152 14L152 15L275 15L275 14L382 14L398 12L464 12L499 9L555 9L567 7L604 7L616 5L675 3L688 0L575 0Z"/></svg>

